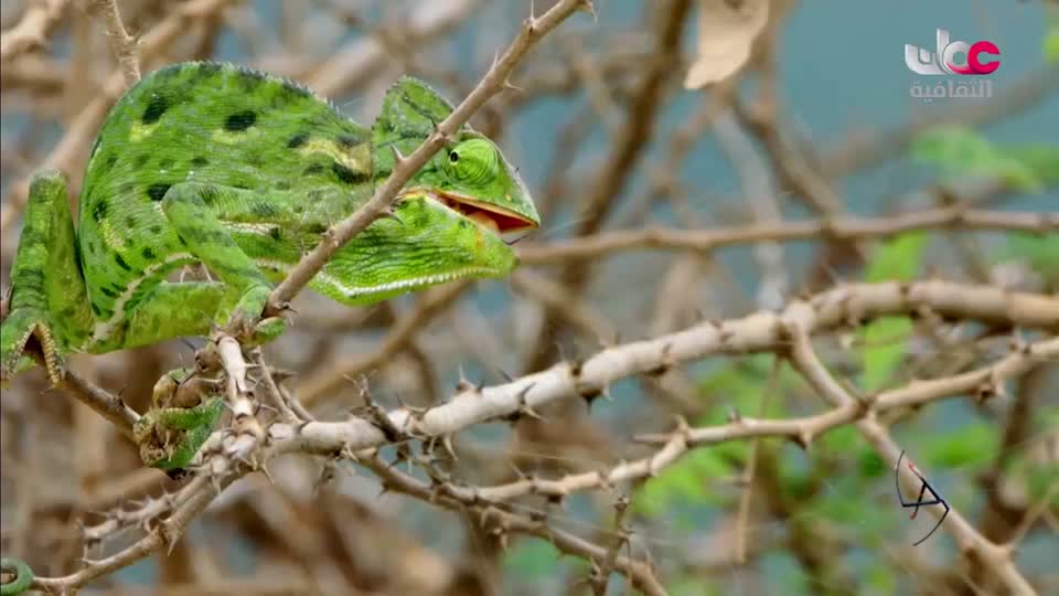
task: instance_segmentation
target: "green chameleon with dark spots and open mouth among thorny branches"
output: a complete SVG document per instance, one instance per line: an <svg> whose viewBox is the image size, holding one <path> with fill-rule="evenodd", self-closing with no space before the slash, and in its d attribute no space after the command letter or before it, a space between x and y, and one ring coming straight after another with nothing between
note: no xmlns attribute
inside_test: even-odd
<svg viewBox="0 0 1059 596"><path fill-rule="evenodd" d="M231 64L183 63L145 77L92 149L76 232L62 175L31 182L0 338L3 380L34 364L23 353L31 338L58 383L64 354L257 321L272 284L371 198L395 151L415 150L451 110L403 78L367 129L293 83ZM517 172L464 127L406 184L396 216L353 238L310 287L362 305L507 274L516 265L510 247L439 196L538 223ZM220 279L165 280L195 263ZM243 339L261 343L284 328L266 319Z"/></svg>

